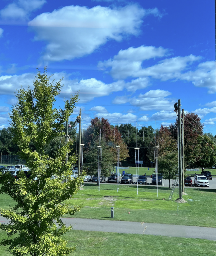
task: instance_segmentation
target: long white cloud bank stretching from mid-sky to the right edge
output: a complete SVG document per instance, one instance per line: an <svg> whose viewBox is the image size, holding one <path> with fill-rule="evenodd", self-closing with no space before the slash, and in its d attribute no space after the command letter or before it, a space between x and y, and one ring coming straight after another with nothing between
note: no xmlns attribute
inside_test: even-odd
<svg viewBox="0 0 216 256"><path fill-rule="evenodd" d="M197 87L208 88L209 93L215 93L215 61L199 63L195 71L191 69L191 64L201 59L200 56L189 55L185 57L172 57L159 61L156 65L142 67L142 62L146 59L164 57L167 49L154 46L130 47L120 50L113 59L99 62L99 69L108 69L114 79L125 79L127 77L138 77L146 79L146 86L149 83L148 77L160 79L162 81L178 79L191 81ZM109 70L110 69L110 70ZM135 81L135 80L134 80Z"/></svg>

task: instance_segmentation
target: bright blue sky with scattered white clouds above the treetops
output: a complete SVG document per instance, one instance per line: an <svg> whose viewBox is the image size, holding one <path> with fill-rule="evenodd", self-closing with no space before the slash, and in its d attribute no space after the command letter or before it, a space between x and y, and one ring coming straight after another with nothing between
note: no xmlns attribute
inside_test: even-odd
<svg viewBox="0 0 216 256"><path fill-rule="evenodd" d="M174 123L174 103L215 132L213 0L0 2L0 129L16 88L36 68L64 76L56 106L80 90L70 121L91 118L141 126Z"/></svg>

